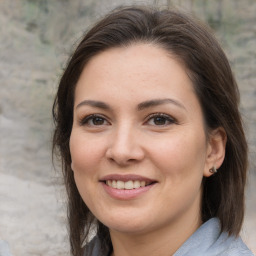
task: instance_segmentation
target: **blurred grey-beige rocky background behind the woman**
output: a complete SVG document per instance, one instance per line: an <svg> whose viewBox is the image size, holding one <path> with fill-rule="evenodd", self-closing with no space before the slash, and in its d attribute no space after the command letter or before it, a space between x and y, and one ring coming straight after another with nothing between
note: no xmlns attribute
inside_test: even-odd
<svg viewBox="0 0 256 256"><path fill-rule="evenodd" d="M69 255L65 191L51 162L54 93L82 34L124 4L175 6L216 32L236 75L250 146L243 239L256 253L255 0L0 0L0 239L14 256Z"/></svg>

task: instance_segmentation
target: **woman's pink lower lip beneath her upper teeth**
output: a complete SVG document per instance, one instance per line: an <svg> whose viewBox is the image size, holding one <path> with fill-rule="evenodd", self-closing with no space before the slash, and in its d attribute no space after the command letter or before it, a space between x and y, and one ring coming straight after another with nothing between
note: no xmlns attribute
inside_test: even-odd
<svg viewBox="0 0 256 256"><path fill-rule="evenodd" d="M135 189L116 189L106 185L102 182L104 190L113 198L119 200L130 200L139 197L140 195L149 191L156 183L151 185L135 188Z"/></svg>

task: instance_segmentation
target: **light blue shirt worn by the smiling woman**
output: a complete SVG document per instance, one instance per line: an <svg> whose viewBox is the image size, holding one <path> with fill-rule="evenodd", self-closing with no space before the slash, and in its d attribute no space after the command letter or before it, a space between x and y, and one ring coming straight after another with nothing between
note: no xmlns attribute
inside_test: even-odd
<svg viewBox="0 0 256 256"><path fill-rule="evenodd" d="M95 237L87 249L90 256L101 256L100 241ZM84 254L86 255L86 252ZM103 255L103 256L108 256ZM150 256L150 255L149 255ZM254 256L240 237L220 232L220 223L212 218L199 227L195 233L176 251L173 256Z"/></svg>

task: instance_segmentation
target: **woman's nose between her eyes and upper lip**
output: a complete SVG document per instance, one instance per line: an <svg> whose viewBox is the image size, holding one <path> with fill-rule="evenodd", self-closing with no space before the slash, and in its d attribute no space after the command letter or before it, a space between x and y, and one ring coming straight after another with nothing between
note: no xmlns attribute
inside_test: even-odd
<svg viewBox="0 0 256 256"><path fill-rule="evenodd" d="M144 158L145 152L136 129L123 125L113 131L106 157L120 166L137 163Z"/></svg>

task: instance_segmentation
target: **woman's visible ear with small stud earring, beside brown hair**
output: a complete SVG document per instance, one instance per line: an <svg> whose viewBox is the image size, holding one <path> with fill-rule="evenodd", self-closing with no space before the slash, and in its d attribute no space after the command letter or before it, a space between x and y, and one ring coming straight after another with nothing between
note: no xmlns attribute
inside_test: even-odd
<svg viewBox="0 0 256 256"><path fill-rule="evenodd" d="M204 176L210 177L213 167L220 168L225 158L227 134L223 127L211 131L208 138L207 156L204 168Z"/></svg>

